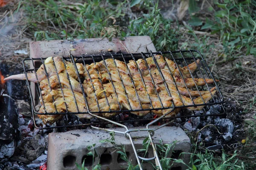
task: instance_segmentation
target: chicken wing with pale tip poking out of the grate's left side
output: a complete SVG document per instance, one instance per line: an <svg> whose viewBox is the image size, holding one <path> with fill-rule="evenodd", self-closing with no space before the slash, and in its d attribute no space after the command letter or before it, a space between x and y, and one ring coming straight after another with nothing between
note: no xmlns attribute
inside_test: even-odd
<svg viewBox="0 0 256 170"><path fill-rule="evenodd" d="M63 63L61 57L48 57L44 61L44 65L45 65L45 69L47 71L48 77L51 77L51 76L56 74L56 70L55 70L55 66L53 64L53 61L55 63L56 70L57 70L58 73L60 73L61 71L63 71L65 69L64 63ZM38 71L36 71L36 75L37 75L38 80L36 78L35 73L27 73L28 80L31 81L31 82L41 82L42 80L46 79L47 74L45 72L44 65L42 64L40 66L40 68L38 68ZM6 80L9 80L9 79L25 80L26 77L25 77L25 74L17 74L17 75L12 75L10 77L6 77L4 80L6 81Z"/></svg>

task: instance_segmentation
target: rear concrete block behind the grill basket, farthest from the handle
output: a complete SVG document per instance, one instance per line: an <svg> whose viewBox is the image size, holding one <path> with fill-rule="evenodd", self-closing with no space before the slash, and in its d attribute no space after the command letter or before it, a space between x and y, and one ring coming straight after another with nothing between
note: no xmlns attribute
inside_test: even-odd
<svg viewBox="0 0 256 170"><path fill-rule="evenodd" d="M80 56L81 54L99 55L108 53L108 49L113 52L122 51L122 53L140 53L146 52L145 47L156 52L156 48L149 36L124 37L124 40L113 38L88 38L75 40L50 40L36 41L29 43L30 58L69 57Z"/></svg>

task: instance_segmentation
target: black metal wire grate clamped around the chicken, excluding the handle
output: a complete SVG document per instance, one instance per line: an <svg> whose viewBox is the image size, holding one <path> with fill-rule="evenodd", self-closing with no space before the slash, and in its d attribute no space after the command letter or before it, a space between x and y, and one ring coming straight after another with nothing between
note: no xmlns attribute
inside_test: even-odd
<svg viewBox="0 0 256 170"><path fill-rule="evenodd" d="M174 74L172 74L173 72L171 71L171 68L168 66L167 64L167 59L170 59L172 60L175 65L180 65L180 67L188 67L189 64L195 62L196 66L198 67L196 69L195 72L191 71L189 69L189 74L191 75L191 80L192 80L192 83L195 84L195 87L193 88L189 88L187 83L185 83L185 86L184 86L184 89L187 91L188 93L188 98L192 100L192 104L191 105L186 105L183 100L182 100L182 94L180 94L179 92L179 87L177 86L177 82L174 81L173 85L177 91L177 94L182 102L181 105L177 106L174 104L174 102L172 101L172 105L168 106L168 107L165 107L164 104L163 104L163 101L160 97L161 94L159 94L158 92L155 94L157 96L157 99L160 101L160 106L158 107L155 107L153 106L153 103L151 101L151 96L147 93L145 94L145 96L147 97L147 99L149 100L149 103L150 104L150 107L149 108L143 108L143 103L142 102L138 102L138 104L140 105L140 108L138 109L132 109L131 107L131 103L129 102L129 94L128 94L128 91L127 91L127 86L125 85L125 82L122 77L122 71L120 71L119 69L116 69L115 73L116 75L119 76L119 78L121 79L121 82L120 84L122 85L122 88L124 89L124 93L125 93L125 98L127 99L128 101L128 108L130 109L122 109L121 108L121 104L120 102L118 102L118 105L119 105L119 110L111 110L110 108L110 104L108 102L108 98L107 98L107 95L105 93L105 91L103 92L104 93L104 97L105 97L105 101L106 101L106 104L108 105L108 108L109 110L108 111L102 111L102 109L100 109L100 106L99 106L99 99L97 99L97 96L96 94L94 93L94 96L96 98L96 105L97 105L97 111L93 111L90 106L89 106L89 103L88 103L88 98L87 98L87 94L86 92L84 91L84 88L83 88L83 77L80 77L79 76L79 70L76 66L76 63L81 63L82 65L87 65L87 64L91 64L91 63L94 63L96 64L96 62L100 62L100 61L103 61L103 65L105 66L106 71L108 73L108 83L111 83L112 85L112 88L113 88L113 91L114 93L112 94L112 97L116 97L118 99L118 94L116 93L116 88L113 84L113 70L110 70L108 69L108 65L107 63L105 62L105 59L113 59L114 61L114 67L116 67L116 62L114 59L118 59L120 61L123 61L125 63L128 63L130 60L134 60L134 61L137 61L137 59L147 59L149 57L152 57L153 61L154 61L154 65L156 66L156 68L154 68L155 70L157 70L159 72L159 76L161 78L161 80L163 81L163 87L162 88L165 88L165 90L167 91L167 96L169 97L172 97L171 95L171 91L169 89L169 83L168 83L168 80L165 79L165 76L160 68L160 63L157 62L157 59L155 58L155 55L162 55L163 56L163 59L164 59L164 64L167 65L167 70L169 71L169 73L171 73L170 75L172 76L172 79L175 80L177 79L177 77L175 77ZM195 50L189 50L189 51L166 51L166 52L148 52L148 53L138 53L138 54L106 54L106 55L95 55L95 56L87 56L87 55L82 55L82 56L79 56L79 57L74 57L72 55L70 55L70 57L63 57L62 60L63 62L65 63L65 61L69 61L71 63L74 64L75 66L75 71L76 71L76 74L78 75L78 82L79 82L79 85L81 87L81 91L82 91L82 95L83 95L83 98L84 98L84 102L85 102L85 108L87 109L86 111L84 112L79 112L79 107L78 107L78 103L76 102L76 97L75 97L75 94L74 94L74 91L73 91L73 88L72 88L72 85L71 85L71 82L70 82L70 76L67 72L67 65L64 64L65 66L65 70L64 70L64 73L67 74L67 79L70 83L70 88L71 88L71 92L72 92L72 95L73 95L73 98L74 98L74 102L75 102L75 105L76 105L76 109L77 109L77 112L70 112L68 111L68 108L67 108L67 104L65 102L65 107L66 107L66 111L64 112L61 112L61 113L58 113L57 111L57 108L56 108L56 105L55 105L55 113L39 113L38 112L38 109L36 109L36 105L37 103L40 105L40 107L44 107L45 108L45 103L44 103L44 100L43 100L43 97L41 95L41 88L39 86L39 83L35 83L35 96L33 95L32 91L34 89L31 88L31 86L29 85L29 81L28 81L28 73L35 73L36 75L36 78L38 80L38 75L36 74L36 71L38 70L38 68L36 67L35 65L35 62L41 62L41 64L44 65L44 69L45 69L45 72L47 73L46 71L46 67L45 67L45 64L44 64L44 61L45 61L46 58L41 58L41 59L24 59L23 60L23 67L24 67L24 62L32 62L32 65L33 65L33 68L32 69L25 69L24 67L24 72L25 72L25 76L26 76L26 82L27 82L27 86L29 88L29 93L30 93L30 96L31 96L31 101L32 101L32 113L33 113L33 118L34 118L34 123L35 123L35 126L39 129L49 129L49 128L56 128L56 127L74 127L74 126L85 126L85 125L96 125L96 124L106 124L108 122L99 122L99 123L94 123L94 122L90 122L89 120L86 120L86 121L82 121L80 122L80 120L76 117L76 121L73 121L72 119L72 116L70 115L73 115L73 114L88 114L88 111L90 113L123 113L123 112L141 112L141 111L157 111L157 110L165 110L165 109L168 109L168 113L171 113L172 111L174 111L175 109L177 108L188 108L188 107L198 107L198 106L206 106L208 105L209 107L213 108L214 110L214 113L212 114L206 114L205 113L205 110L203 109L204 113L202 114L195 114L195 111L192 111L190 112L189 116L188 115L183 115L183 116L175 116L175 117L171 117L171 118L165 118L163 116L163 119L174 119L174 118L178 118L178 117L195 117L195 116L216 116L216 115L220 115L222 114L221 112L223 112L223 107L221 108L221 112L220 111L216 111L215 110L215 107L213 107L213 105L217 105L217 104L221 104L223 102L223 96L220 92L220 89L218 88L218 85L217 85L217 82L215 81L212 73L210 72L209 70L209 67L207 66L204 58L202 57L201 53L199 51L195 51ZM197 59L199 59L200 61L199 62L196 62ZM55 65L55 62L54 63L54 67L55 67L55 71L57 72L57 68L56 68L56 65ZM135 62L136 63L136 62ZM157 91L157 82L156 80L154 79L154 75L151 74L151 66L152 65L148 65L147 62L145 62L146 64L146 70L149 72L147 78L148 79L151 79L151 83L154 85L154 90ZM136 64L137 65L137 64ZM126 67L126 70L128 71L128 77L131 77L131 88L134 89L134 93L136 95L136 99L137 101L140 101L140 95L139 94L139 91L135 90L136 88L136 85L135 85L135 82L134 79L133 79L133 76L132 76L132 73L131 73L131 70L128 68L128 65L125 64L125 67ZM137 65L138 67L138 65ZM186 82L186 78L183 77L182 75L182 69L180 67L176 67L178 73L180 73L180 77L179 79L183 82ZM144 86L144 88L146 88L146 82L145 82L145 76L143 75L142 71L140 69L138 69L138 73L140 75L140 82L141 84ZM90 77L90 74L89 74L89 71L86 69L86 67L84 67L84 74L87 74L88 75L88 82L92 84L92 88L93 88L93 92L95 92L95 87L93 85L93 80L92 80L92 77ZM98 71L97 72L98 76L100 77L100 72ZM57 78L58 78L58 82L59 84L60 83L60 77L59 75L57 74ZM198 86L196 85L197 84L197 78L201 78L201 80L204 81L205 85L204 86ZM207 84L207 79L213 79L213 83L212 84ZM49 82L49 76L47 74L47 81ZM100 83L101 84L104 84L104 82L102 82L102 79L99 79ZM50 82L49 82L49 85L50 85ZM210 93L210 89L213 88L213 87L216 87L216 90L217 92L215 93L215 95L213 96L212 93ZM49 89L50 91L52 91L51 87L49 86ZM65 99L64 97L64 91L61 89L61 95L63 96L63 99ZM147 89L147 88L146 88ZM190 90L192 91L196 91L198 92L199 94L199 99L201 98L203 103L201 104L195 104L194 102L194 98L192 97L192 94L190 92ZM209 94L211 94L212 96L212 99L209 101L209 102L205 102L204 99L203 99L203 96L201 95L200 91L209 91ZM39 99L41 98L41 101L42 103L39 102ZM52 98L53 102L54 102L54 98ZM166 113L165 115L167 115L168 113ZM64 114L64 118L63 118L63 122L64 124L62 125L57 125L57 126L49 126L49 127L40 127L39 125L36 124L36 121L35 121L35 114L38 114L38 115L63 115ZM148 114L151 114L151 118L147 118L147 119L144 119L143 117L138 117L138 116L131 116L131 120L128 120L128 121L117 121L117 122L120 122L120 123L124 123L124 122L142 122L142 121L151 121L151 120L154 120L153 118L153 115L152 113L148 113ZM145 117L145 116L144 116ZM58 123L57 123L58 124Z"/></svg>

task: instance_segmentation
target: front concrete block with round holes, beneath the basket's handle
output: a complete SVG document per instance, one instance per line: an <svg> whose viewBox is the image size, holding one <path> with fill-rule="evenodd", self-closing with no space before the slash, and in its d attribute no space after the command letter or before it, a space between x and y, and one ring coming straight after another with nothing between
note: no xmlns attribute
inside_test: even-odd
<svg viewBox="0 0 256 170"><path fill-rule="evenodd" d="M145 127L137 127L145 128ZM151 127L154 129L155 127ZM134 128L130 128L134 129ZM125 131L124 128L115 128L115 130ZM134 144L137 150L142 149L143 140L148 133L146 131L131 132L134 139ZM47 170L77 170L75 162L82 164L85 159L85 165L88 169L92 168L93 157L87 156L91 150L87 149L87 146L96 144L95 150L99 155L94 159L94 165L98 162L102 165L102 170L121 170L127 169L127 163L120 159L120 154L116 153L116 148L111 143L100 143L102 139L110 137L109 132L95 129L85 130L70 130L64 133L50 133L48 139L48 158L47 158ZM178 158L182 152L189 152L191 143L189 137L180 127L163 127L155 131L153 136L154 143L159 144L160 139L163 140L163 144L171 144L178 141L174 147L174 154L170 154L172 158ZM125 146L128 159L132 164L137 164L137 160L134 155L129 139L126 139L122 134L116 133L115 142L118 146L121 144ZM148 155L146 157L153 157L152 147L149 147ZM170 152L172 153L172 152ZM140 156L144 156L144 153L139 153ZM180 157L181 158L181 157ZM182 156L185 163L189 163L189 155ZM151 170L152 165L149 162L143 162L143 169ZM183 164L175 164L172 169L183 170L186 167Z"/></svg>

